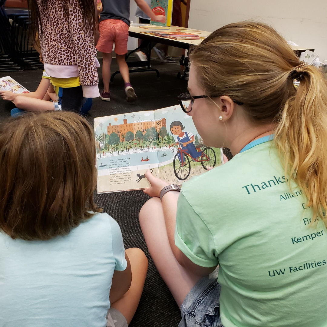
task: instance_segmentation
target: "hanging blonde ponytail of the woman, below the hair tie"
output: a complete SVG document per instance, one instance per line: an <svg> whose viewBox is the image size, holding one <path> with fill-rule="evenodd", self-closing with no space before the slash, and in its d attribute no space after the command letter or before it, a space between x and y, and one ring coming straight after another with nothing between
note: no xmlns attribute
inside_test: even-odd
<svg viewBox="0 0 327 327"><path fill-rule="evenodd" d="M297 92L280 114L275 143L285 174L308 198L312 221L318 216L327 226L327 83L315 67L300 74Z"/></svg>

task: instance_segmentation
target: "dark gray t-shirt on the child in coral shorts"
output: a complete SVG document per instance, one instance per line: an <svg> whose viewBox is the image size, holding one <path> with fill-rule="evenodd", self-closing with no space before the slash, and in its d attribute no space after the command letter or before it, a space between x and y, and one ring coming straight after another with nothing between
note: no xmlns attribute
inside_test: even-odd
<svg viewBox="0 0 327 327"><path fill-rule="evenodd" d="M101 0L103 10L100 13L100 22L105 19L120 19L129 26L129 1Z"/></svg>

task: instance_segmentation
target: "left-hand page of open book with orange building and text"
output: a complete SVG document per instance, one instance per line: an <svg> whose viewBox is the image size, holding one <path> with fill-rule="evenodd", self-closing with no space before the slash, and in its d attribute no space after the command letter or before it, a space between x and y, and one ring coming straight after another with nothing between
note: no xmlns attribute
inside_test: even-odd
<svg viewBox="0 0 327 327"><path fill-rule="evenodd" d="M148 169L159 177L158 125L153 111L94 119L98 193L150 187Z"/></svg>

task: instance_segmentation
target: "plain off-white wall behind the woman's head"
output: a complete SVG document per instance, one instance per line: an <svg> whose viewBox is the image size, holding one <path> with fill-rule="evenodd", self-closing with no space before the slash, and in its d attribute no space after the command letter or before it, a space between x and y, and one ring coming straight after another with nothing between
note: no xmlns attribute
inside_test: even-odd
<svg viewBox="0 0 327 327"><path fill-rule="evenodd" d="M255 19L273 26L286 40L315 49L327 60L327 1L189 0L188 26L206 31Z"/></svg>

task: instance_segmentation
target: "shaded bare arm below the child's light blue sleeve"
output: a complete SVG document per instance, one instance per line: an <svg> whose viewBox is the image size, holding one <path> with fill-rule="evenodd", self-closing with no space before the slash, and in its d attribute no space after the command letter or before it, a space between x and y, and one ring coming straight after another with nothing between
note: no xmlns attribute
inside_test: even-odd
<svg viewBox="0 0 327 327"><path fill-rule="evenodd" d="M130 268L129 258L125 252L127 267L123 271L115 270L112 276L112 284L110 289L110 303L116 302L129 290L132 282L132 271Z"/></svg>

